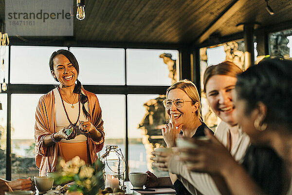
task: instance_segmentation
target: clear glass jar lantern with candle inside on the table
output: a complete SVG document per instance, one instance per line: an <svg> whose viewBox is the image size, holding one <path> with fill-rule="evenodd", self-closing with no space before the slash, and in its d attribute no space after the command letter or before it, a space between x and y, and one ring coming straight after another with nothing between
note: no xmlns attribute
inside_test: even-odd
<svg viewBox="0 0 292 195"><path fill-rule="evenodd" d="M106 153L100 157L104 163L105 188L124 189L126 161L121 149L116 145L107 145Z"/></svg>

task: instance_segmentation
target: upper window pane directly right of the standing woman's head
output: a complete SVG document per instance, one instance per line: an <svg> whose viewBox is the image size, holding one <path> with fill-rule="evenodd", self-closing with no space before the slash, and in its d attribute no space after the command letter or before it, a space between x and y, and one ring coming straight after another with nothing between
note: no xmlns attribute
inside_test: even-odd
<svg viewBox="0 0 292 195"><path fill-rule="evenodd" d="M70 47L88 85L125 85L125 49Z"/></svg>

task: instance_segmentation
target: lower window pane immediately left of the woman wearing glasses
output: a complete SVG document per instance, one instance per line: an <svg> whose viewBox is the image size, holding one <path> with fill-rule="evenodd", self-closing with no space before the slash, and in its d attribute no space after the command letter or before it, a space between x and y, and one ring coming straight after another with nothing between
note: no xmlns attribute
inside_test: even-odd
<svg viewBox="0 0 292 195"><path fill-rule="evenodd" d="M128 95L129 172L150 170L156 176L167 176L151 167L149 159L156 147L165 146L161 128L165 124L164 96Z"/></svg>

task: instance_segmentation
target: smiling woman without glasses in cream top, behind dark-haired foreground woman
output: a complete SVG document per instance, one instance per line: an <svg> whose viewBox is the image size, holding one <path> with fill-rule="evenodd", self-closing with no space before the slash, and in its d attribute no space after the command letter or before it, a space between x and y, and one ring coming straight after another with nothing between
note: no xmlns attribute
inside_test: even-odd
<svg viewBox="0 0 292 195"><path fill-rule="evenodd" d="M224 153L226 156L235 158L237 161L241 160L245 155L250 140L237 125L237 120L234 117L236 108L232 94L236 85L237 74L240 73L242 73L240 68L229 61L210 66L204 73L204 92L206 93L208 103L214 113L222 120L216 130L215 137L225 147L204 148L202 153L212 154L210 156ZM207 135L209 136L208 133ZM198 161L198 158L196 158L197 154L192 149L185 149L182 152L187 152L190 155L185 156L185 159L181 157L180 161L176 157L170 157L167 165L171 173L180 176L180 180L189 192L193 195L197 195L199 192L203 195L228 195L230 193L225 181L222 180L218 173L192 172L189 166L193 166ZM203 157L200 158L201 161L204 160L210 167L220 168L221 162L223 162L223 159L214 160L214 158ZM186 160L189 161L188 165L184 163Z"/></svg>

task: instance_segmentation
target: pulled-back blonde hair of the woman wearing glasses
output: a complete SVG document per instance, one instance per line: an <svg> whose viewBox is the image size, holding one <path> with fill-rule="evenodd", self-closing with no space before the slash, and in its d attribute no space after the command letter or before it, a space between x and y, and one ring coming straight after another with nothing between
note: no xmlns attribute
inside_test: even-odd
<svg viewBox="0 0 292 195"><path fill-rule="evenodd" d="M199 108L196 111L196 116L201 120L201 100L200 100L200 96L198 93L198 89L196 87L196 85L187 79L181 80L179 82L174 83L173 85L171 85L167 90L166 90L166 97L169 93L170 90L172 89L181 89L183 90L183 92L192 100L192 105L194 105L196 102L199 102Z"/></svg>

